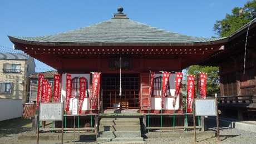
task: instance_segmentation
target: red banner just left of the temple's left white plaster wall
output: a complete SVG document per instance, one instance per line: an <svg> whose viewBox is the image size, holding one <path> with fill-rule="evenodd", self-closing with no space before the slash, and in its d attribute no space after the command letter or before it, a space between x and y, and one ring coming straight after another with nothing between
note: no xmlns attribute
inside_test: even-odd
<svg viewBox="0 0 256 144"><path fill-rule="evenodd" d="M54 75L53 77L53 102L60 102L60 75Z"/></svg>

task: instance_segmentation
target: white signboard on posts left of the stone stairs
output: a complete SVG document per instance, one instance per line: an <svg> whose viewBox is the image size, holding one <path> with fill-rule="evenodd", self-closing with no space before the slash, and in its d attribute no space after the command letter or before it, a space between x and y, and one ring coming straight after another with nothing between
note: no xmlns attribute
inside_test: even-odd
<svg viewBox="0 0 256 144"><path fill-rule="evenodd" d="M40 103L40 121L62 121L62 103Z"/></svg>

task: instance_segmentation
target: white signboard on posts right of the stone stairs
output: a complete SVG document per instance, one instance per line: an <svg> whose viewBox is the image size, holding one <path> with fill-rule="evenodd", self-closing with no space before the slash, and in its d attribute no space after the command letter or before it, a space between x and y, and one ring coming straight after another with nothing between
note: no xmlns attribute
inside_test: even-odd
<svg viewBox="0 0 256 144"><path fill-rule="evenodd" d="M215 98L200 99L195 98L195 115L196 116L216 116Z"/></svg>

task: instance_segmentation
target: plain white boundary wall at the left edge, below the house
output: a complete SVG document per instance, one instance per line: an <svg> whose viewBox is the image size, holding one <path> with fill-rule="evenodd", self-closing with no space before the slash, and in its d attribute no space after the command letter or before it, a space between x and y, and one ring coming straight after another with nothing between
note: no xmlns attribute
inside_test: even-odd
<svg viewBox="0 0 256 144"><path fill-rule="evenodd" d="M0 99L0 121L22 116L22 100Z"/></svg>

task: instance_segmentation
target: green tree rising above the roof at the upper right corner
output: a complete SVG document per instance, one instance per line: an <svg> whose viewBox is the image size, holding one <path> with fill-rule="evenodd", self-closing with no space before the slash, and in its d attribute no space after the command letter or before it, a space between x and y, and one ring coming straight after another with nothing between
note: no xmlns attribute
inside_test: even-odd
<svg viewBox="0 0 256 144"><path fill-rule="evenodd" d="M235 7L232 14L216 21L214 31L219 37L227 37L256 17L256 0L248 1L244 7Z"/></svg>

